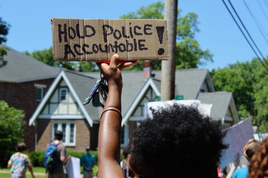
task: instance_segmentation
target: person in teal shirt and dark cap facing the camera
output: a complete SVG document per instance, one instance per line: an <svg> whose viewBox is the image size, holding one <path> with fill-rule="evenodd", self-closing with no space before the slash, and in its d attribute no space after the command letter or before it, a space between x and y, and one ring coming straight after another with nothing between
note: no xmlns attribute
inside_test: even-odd
<svg viewBox="0 0 268 178"><path fill-rule="evenodd" d="M93 178L93 166L95 165L94 155L90 154L90 147L86 147L87 153L81 158L81 166L83 166L83 177Z"/></svg>

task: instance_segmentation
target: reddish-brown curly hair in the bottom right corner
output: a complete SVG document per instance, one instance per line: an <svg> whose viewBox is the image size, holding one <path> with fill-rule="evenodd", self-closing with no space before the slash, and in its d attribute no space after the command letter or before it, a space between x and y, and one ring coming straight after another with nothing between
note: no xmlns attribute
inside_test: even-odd
<svg viewBox="0 0 268 178"><path fill-rule="evenodd" d="M268 177L268 136L250 159L248 178Z"/></svg>

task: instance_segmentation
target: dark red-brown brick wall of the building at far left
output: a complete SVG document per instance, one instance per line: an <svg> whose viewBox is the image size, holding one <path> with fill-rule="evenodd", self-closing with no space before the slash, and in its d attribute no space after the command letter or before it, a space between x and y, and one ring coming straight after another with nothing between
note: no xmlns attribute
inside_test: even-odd
<svg viewBox="0 0 268 178"><path fill-rule="evenodd" d="M35 127L29 126L29 119L40 103L36 101L34 84L46 85L46 88L43 88L43 96L45 96L53 80L54 78L21 83L0 82L0 100L6 101L10 107L24 110L24 142L27 150L35 149Z"/></svg>

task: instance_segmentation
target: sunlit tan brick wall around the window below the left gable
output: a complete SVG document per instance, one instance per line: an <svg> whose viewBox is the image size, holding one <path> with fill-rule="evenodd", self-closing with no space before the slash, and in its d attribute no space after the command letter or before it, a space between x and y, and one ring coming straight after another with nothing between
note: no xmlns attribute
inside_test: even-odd
<svg viewBox="0 0 268 178"><path fill-rule="evenodd" d="M46 150L47 144L51 141L52 122L55 119L37 119L37 150ZM98 145L99 124L91 128L86 119L60 120L60 122L74 121L76 125L75 146L67 146L66 150L85 151L85 147L91 146L95 150Z"/></svg>

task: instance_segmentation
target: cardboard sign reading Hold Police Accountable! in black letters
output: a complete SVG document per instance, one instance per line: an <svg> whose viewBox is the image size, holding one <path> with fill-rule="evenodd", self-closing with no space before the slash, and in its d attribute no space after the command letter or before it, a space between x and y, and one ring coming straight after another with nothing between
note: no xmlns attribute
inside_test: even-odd
<svg viewBox="0 0 268 178"><path fill-rule="evenodd" d="M166 20L52 18L54 61L169 60Z"/></svg>

